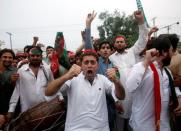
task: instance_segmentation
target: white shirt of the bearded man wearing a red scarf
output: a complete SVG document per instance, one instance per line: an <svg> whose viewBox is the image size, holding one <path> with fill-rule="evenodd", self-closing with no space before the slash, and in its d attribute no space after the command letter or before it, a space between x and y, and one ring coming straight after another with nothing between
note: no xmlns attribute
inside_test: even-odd
<svg viewBox="0 0 181 131"><path fill-rule="evenodd" d="M160 131L170 131L169 125L169 98L170 86L169 78L165 70L160 69L155 62L159 80L161 95L161 117ZM145 70L143 63L136 64L127 80L127 88L132 93L133 104L130 124L134 131L154 131L155 130L155 110L154 110L154 76L148 67ZM178 91L178 90L177 90ZM177 94L180 92L177 92Z"/></svg>

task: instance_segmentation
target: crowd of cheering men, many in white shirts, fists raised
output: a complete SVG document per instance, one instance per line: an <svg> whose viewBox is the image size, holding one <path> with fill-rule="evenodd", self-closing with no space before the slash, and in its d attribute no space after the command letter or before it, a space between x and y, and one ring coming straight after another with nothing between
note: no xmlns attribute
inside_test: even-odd
<svg viewBox="0 0 181 131"><path fill-rule="evenodd" d="M0 129L19 115L18 105L22 113L59 96L67 98L65 131L181 130L178 36L151 37L158 28L148 30L135 11L139 36L132 47L122 35L114 43L92 41L95 17L87 15L82 45L68 51L68 61L56 45L47 46L44 58L38 37L23 53L0 50Z"/></svg>

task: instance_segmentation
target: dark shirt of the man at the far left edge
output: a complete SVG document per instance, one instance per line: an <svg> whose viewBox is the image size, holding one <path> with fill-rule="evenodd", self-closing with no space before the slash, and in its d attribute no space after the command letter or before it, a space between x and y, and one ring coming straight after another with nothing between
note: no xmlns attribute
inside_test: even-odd
<svg viewBox="0 0 181 131"><path fill-rule="evenodd" d="M16 71L16 68L9 67L0 73L0 114L8 112L9 101L14 90L14 85L11 83L10 78Z"/></svg>

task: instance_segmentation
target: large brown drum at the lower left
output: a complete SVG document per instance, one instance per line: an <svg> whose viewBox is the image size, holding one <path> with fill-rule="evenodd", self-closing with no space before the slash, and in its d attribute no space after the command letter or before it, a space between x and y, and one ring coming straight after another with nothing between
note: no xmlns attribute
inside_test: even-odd
<svg viewBox="0 0 181 131"><path fill-rule="evenodd" d="M12 120L6 131L64 131L65 102L58 97L42 102Z"/></svg>

